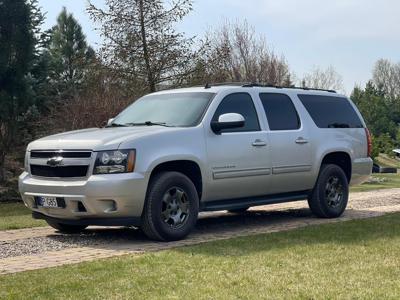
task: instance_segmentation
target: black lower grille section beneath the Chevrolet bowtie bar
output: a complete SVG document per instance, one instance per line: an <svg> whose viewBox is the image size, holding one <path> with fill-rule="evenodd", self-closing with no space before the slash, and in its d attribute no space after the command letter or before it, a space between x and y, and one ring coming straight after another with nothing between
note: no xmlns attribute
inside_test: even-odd
<svg viewBox="0 0 400 300"><path fill-rule="evenodd" d="M88 166L60 166L49 167L31 165L31 174L41 177L85 177Z"/></svg>

